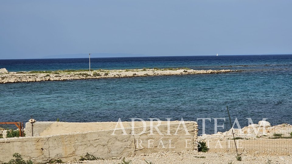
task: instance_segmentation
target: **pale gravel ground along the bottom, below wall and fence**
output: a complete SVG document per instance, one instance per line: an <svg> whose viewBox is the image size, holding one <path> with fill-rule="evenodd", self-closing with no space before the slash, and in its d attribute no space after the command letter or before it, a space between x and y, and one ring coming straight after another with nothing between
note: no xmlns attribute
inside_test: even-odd
<svg viewBox="0 0 292 164"><path fill-rule="evenodd" d="M256 164L276 164L276 163L292 163L292 156L273 156L273 155L241 155L242 161L236 160L236 155L228 155L226 153L210 153L210 152L165 152L165 153L153 153L150 155L137 155L135 157L126 158L125 161L131 161L132 164L147 164L145 160L150 163L164 164L194 164L194 163L204 163L204 164L243 164L243 163L256 163ZM80 162L67 162L68 164L119 164L122 163L121 159L113 160L95 160L95 161L80 161ZM124 164L124 163L122 163Z"/></svg>

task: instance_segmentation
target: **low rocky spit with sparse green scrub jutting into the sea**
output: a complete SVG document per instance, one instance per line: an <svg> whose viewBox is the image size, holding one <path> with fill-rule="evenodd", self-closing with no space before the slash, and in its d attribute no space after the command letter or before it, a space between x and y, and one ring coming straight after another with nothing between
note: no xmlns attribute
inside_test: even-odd
<svg viewBox="0 0 292 164"><path fill-rule="evenodd" d="M54 80L78 80L98 78L121 78L137 76L159 75L185 75L185 74L210 74L227 73L234 70L191 70L188 68L176 69L133 69L133 70L58 70L58 71L30 71L8 72L5 68L0 69L0 83L54 81Z"/></svg>

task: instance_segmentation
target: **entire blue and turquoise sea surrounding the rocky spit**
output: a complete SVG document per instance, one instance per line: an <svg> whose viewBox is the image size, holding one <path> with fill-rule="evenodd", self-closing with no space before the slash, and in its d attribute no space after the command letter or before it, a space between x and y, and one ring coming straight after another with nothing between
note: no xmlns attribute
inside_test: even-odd
<svg viewBox="0 0 292 164"><path fill-rule="evenodd" d="M197 121L199 135L263 118L292 124L292 55L91 58L91 69L178 68L239 70L218 74L149 76L0 84L0 122L96 122L157 118ZM0 60L8 71L89 69L88 58ZM139 121L139 120L137 120ZM229 128L228 128L229 127ZM235 128L237 127L237 124Z"/></svg>

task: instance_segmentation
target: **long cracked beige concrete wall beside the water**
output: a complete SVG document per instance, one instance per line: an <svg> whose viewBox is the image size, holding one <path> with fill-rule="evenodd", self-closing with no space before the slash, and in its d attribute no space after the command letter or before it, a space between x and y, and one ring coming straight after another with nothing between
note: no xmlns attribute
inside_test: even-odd
<svg viewBox="0 0 292 164"><path fill-rule="evenodd" d="M124 129L119 130L116 129L120 126L115 129L117 122L85 123L83 127L95 124L99 129L92 132L0 139L0 161L8 162L13 153L19 153L24 159L32 159L34 162L47 162L54 159L78 160L86 153L103 159L115 159L154 152L197 150L196 122L185 121L183 126L180 121L170 121L169 125L162 121L158 130L151 129L149 121L144 123L146 126L141 121L135 122L132 129L131 122L122 122ZM54 127L54 133L59 133L66 127L71 127L67 125L50 122L46 125L47 128L40 126L44 130L37 130L37 126L34 129L40 134L47 134L48 128ZM158 122L153 122L153 126L155 125ZM90 129L90 126L86 127ZM72 132L72 129L69 130Z"/></svg>

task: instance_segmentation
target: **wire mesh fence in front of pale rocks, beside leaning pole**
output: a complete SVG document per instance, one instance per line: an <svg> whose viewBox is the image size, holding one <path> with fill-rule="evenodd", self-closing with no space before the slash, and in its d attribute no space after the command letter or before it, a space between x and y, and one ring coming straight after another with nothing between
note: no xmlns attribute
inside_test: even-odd
<svg viewBox="0 0 292 164"><path fill-rule="evenodd" d="M236 154L237 151L238 154L292 154L292 125L290 124L274 124L273 126L273 121L259 121L258 124L251 124L242 129L231 129L228 120L226 125L226 151L228 154Z"/></svg>

